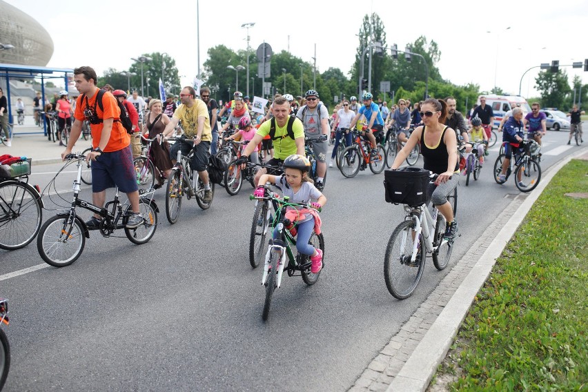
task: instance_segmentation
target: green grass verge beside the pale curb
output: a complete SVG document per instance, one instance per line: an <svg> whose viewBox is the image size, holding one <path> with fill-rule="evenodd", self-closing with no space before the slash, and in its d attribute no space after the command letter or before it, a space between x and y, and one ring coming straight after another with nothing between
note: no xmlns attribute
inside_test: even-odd
<svg viewBox="0 0 588 392"><path fill-rule="evenodd" d="M533 205L440 366L451 390L588 391L588 199L564 195L587 191L573 160Z"/></svg>

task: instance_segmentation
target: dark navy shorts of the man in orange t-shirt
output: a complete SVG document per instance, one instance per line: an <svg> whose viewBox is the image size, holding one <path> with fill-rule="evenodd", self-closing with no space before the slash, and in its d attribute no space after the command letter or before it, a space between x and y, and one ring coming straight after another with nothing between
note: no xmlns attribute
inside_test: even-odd
<svg viewBox="0 0 588 392"><path fill-rule="evenodd" d="M112 153L101 153L92 162L92 192L119 187L124 193L139 190L130 146Z"/></svg>

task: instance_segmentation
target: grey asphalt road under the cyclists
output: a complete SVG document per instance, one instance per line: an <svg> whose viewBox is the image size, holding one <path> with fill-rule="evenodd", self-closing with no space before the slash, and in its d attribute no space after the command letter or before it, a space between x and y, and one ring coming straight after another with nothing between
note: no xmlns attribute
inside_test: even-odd
<svg viewBox="0 0 588 392"><path fill-rule="evenodd" d="M548 131L543 170L578 150L566 141L567 132ZM498 145L480 180L466 187L462 177L461 237L449 267L436 271L427 259L415 294L404 301L388 293L383 277L386 243L404 213L384 202L384 176L369 170L345 179L329 169L322 212L326 268L314 286L284 274L266 323L262 268L248 263L254 209L248 184L233 197L217 187L206 211L184 199L175 225L166 220L158 190L159 226L148 244L133 245L122 232L122 238L92 232L81 257L65 268L7 277L45 265L36 242L0 250L0 295L10 300L11 316L5 391L345 391L476 246L507 205L504 197L520 194L512 178L502 186L492 178L497 151ZM42 188L61 166L35 166L31 181ZM57 190L70 189L73 178L65 170ZM90 200L88 188L81 195ZM45 210L43 219L54 214Z"/></svg>

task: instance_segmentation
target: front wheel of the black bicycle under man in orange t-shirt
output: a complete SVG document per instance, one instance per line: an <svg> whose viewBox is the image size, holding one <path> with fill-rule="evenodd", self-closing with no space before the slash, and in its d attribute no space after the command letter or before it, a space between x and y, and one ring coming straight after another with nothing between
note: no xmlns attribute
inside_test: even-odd
<svg viewBox="0 0 588 392"><path fill-rule="evenodd" d="M54 267L72 264L84 251L86 233L79 217L70 223L69 215L55 215L41 226L37 237L37 251L41 258Z"/></svg>

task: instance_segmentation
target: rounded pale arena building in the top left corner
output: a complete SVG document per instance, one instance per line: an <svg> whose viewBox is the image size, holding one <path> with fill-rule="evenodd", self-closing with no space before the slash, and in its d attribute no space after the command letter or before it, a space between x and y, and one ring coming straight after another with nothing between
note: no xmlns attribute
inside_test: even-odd
<svg viewBox="0 0 588 392"><path fill-rule="evenodd" d="M14 46L0 50L0 63L44 67L53 55L53 40L47 30L25 12L2 0L0 43Z"/></svg>

